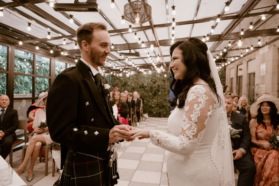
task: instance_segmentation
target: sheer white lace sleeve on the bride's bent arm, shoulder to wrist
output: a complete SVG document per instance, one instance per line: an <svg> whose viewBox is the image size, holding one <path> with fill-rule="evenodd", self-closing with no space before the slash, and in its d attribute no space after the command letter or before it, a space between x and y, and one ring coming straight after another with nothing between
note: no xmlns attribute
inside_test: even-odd
<svg viewBox="0 0 279 186"><path fill-rule="evenodd" d="M158 130L150 131L150 139L156 146L175 154L190 156L199 144L209 117L216 109L213 93L205 86L193 86L187 95L182 127L179 136L171 136Z"/></svg>

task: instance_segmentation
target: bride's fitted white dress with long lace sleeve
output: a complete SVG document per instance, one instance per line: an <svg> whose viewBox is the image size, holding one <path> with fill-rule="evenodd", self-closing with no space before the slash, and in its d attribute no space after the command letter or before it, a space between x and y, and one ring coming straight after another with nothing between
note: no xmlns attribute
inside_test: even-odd
<svg viewBox="0 0 279 186"><path fill-rule="evenodd" d="M217 170L211 157L219 126L217 107L218 100L209 86L195 85L188 92L184 108L176 107L168 118L168 130L174 136L158 130L150 132L152 143L169 151L167 173L170 186L224 184L218 173L221 170Z"/></svg>

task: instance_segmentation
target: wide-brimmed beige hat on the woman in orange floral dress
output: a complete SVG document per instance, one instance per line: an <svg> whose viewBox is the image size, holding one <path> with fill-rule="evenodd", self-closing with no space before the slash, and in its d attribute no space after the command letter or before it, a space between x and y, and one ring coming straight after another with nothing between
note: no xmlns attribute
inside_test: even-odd
<svg viewBox="0 0 279 186"><path fill-rule="evenodd" d="M274 103L276 108L277 108L277 113L279 113L279 98L278 97L274 97L272 95L260 96L257 99L257 101L254 102L250 106L250 113L253 114L253 115L257 115L258 114L258 109L260 107L260 103L265 102L265 101L270 101L270 102Z"/></svg>

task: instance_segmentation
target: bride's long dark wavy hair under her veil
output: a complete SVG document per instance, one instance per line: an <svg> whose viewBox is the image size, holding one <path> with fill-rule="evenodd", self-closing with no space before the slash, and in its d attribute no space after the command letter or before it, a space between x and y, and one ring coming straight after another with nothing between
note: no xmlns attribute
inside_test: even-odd
<svg viewBox="0 0 279 186"><path fill-rule="evenodd" d="M210 76L211 71L206 54L208 50L206 44L196 38L188 38L185 41L175 42L170 48L171 56L173 50L177 47L182 50L182 62L187 66L187 72L182 80L175 79L173 71L170 69L173 77L170 86L175 96L174 99L169 100L171 106L176 106L177 100L179 100L178 108L184 107L187 93L190 87L194 86L193 80L196 78L201 78L208 83L219 102L220 97L216 91L216 84Z"/></svg>

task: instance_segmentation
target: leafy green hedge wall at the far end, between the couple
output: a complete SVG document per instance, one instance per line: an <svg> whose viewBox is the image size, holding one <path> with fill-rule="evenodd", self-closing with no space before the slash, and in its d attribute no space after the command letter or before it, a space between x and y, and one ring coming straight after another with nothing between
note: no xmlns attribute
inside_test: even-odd
<svg viewBox="0 0 279 186"><path fill-rule="evenodd" d="M169 116L170 77L161 73L114 76L114 87L120 92L140 92L144 98L143 113L149 117Z"/></svg>

